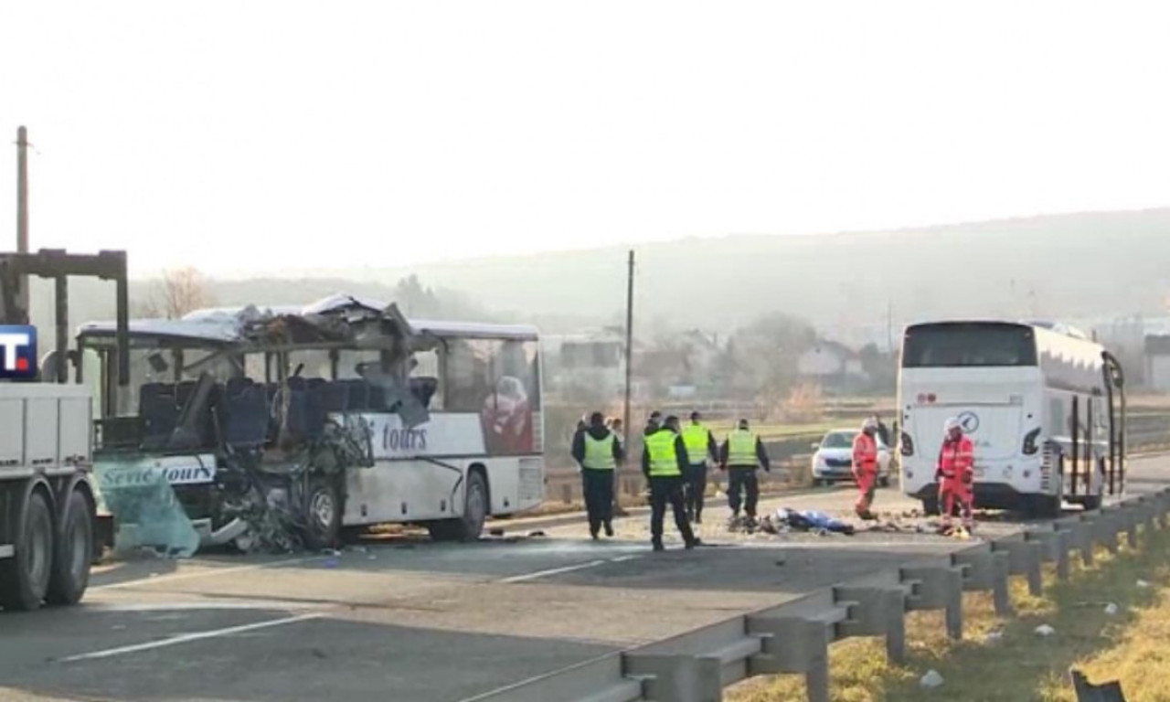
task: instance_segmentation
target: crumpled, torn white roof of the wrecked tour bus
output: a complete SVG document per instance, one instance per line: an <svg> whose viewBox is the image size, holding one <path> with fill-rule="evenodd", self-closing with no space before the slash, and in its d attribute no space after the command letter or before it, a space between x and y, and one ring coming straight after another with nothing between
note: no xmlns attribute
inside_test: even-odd
<svg viewBox="0 0 1170 702"><path fill-rule="evenodd" d="M347 312L365 312L401 319L408 325L408 336L438 336L464 338L536 339L539 332L529 324L483 324L476 322L443 322L433 319L402 318L398 308L378 301L353 295L331 295L304 307L296 305L246 305L236 308L207 308L192 311L180 319L131 319L132 336L150 336L170 339L192 339L218 344L243 343L245 325L252 321L274 317L331 317ZM90 322L78 328L78 336L113 335L113 322Z"/></svg>

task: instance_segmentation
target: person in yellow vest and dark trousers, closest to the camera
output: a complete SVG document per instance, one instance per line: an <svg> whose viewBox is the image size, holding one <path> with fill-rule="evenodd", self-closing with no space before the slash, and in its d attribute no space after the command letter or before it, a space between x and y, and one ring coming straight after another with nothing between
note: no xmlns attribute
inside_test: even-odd
<svg viewBox="0 0 1170 702"><path fill-rule="evenodd" d="M687 447L679 435L679 418L670 415L661 427L646 427L642 436L642 473L651 486L651 543L655 551L662 546L662 518L670 503L674 523L688 549L698 544L690 530L682 504L682 475L687 468Z"/></svg>

